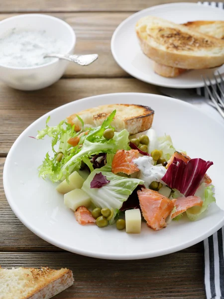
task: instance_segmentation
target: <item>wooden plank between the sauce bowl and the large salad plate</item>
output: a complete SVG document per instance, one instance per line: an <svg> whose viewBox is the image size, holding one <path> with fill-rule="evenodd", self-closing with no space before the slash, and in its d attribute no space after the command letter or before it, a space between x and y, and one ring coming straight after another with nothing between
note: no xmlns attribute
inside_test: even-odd
<svg viewBox="0 0 224 299"><path fill-rule="evenodd" d="M34 92L22 92L0 83L0 156L33 121L63 104L114 92L158 93L155 86L137 79L62 79Z"/></svg>

